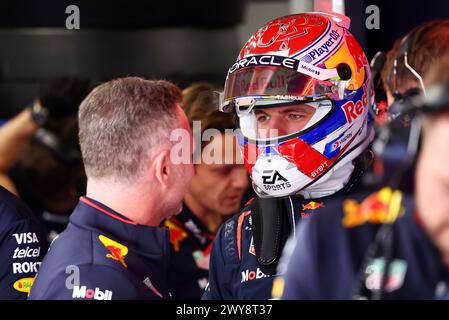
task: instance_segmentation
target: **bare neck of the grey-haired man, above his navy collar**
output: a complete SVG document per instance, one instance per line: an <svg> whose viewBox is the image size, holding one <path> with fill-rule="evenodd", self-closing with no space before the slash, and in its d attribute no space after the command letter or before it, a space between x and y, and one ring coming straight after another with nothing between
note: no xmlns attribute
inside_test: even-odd
<svg viewBox="0 0 449 320"><path fill-rule="evenodd" d="M141 225L159 226L162 220L156 194L144 192L138 184L89 180L86 195Z"/></svg>

